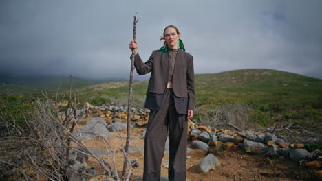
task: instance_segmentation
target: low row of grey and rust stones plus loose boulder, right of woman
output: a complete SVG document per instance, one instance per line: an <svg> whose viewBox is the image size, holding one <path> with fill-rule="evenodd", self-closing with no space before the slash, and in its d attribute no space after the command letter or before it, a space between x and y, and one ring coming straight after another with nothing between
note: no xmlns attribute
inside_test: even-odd
<svg viewBox="0 0 322 181"><path fill-rule="evenodd" d="M322 165L322 152L319 149L308 152L304 144L290 144L270 132L233 132L230 130L211 129L206 126L196 126L190 123L189 138L196 149L208 150L209 146L217 149L244 149L252 154L265 154L270 158L286 156L294 162L300 162L312 169L319 169ZM192 127L192 128L191 128ZM210 168L219 165L215 156L208 154L199 169L207 172Z"/></svg>

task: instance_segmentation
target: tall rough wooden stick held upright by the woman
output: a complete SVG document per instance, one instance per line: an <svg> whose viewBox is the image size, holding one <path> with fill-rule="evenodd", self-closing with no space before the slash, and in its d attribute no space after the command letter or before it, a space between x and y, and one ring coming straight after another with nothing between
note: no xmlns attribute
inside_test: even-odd
<svg viewBox="0 0 322 181"><path fill-rule="evenodd" d="M136 13L138 14L138 13ZM136 40L136 23L138 22L138 16L134 16L133 21L133 40ZM133 70L134 70L134 49L132 49L132 56L131 56L131 73L130 73L130 80L129 80L129 100L127 101L127 142L125 144L125 154L128 153L129 149L129 128L130 128L130 120L131 120L131 108L132 108L132 83L133 83ZM127 159L124 158L123 164L123 180L125 178L125 172L127 170Z"/></svg>

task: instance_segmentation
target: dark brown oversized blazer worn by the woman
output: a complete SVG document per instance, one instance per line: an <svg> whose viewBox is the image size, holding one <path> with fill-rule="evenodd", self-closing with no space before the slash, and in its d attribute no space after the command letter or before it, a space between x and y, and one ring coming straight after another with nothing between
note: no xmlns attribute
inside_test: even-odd
<svg viewBox="0 0 322 181"><path fill-rule="evenodd" d="M137 54L134 59L134 66L139 75L151 72L144 107L158 110L168 83L169 53L160 54L160 50L153 51L149 60L145 63ZM175 59L172 87L177 112L186 114L187 110L193 110L195 104L193 56L180 49Z"/></svg>

